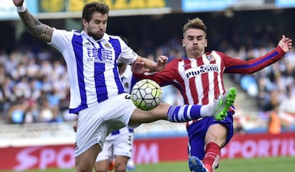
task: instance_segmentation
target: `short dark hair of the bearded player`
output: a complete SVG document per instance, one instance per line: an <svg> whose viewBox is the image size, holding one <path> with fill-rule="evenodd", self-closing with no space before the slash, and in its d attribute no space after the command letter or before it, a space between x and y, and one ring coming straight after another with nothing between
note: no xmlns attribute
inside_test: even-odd
<svg viewBox="0 0 295 172"><path fill-rule="evenodd" d="M97 1L86 4L83 8L82 18L86 21L90 21L93 13L98 12L100 14L107 14L110 11L107 4L103 4Z"/></svg>

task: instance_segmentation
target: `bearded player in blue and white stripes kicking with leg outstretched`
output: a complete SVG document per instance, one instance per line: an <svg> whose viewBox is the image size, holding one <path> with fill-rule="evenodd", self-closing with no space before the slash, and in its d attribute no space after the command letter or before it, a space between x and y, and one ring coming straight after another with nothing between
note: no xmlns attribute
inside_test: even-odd
<svg viewBox="0 0 295 172"><path fill-rule="evenodd" d="M55 47L63 55L70 80L70 113L78 114L76 131L76 171L90 172L95 158L110 132L126 125L155 122L187 122L200 117L224 117L235 95L220 97L206 105L171 106L160 103L150 111L137 109L125 92L118 73L118 63L143 63L146 72L165 68L167 57L157 63L141 58L118 36L106 31L109 8L90 2L83 7L83 31L65 31L38 21L23 6L24 0L13 0L21 21L36 38Z"/></svg>

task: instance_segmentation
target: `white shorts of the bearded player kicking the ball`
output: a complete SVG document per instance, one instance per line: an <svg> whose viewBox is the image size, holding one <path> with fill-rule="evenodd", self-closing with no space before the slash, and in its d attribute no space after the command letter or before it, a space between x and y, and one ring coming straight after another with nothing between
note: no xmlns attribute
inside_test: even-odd
<svg viewBox="0 0 295 172"><path fill-rule="evenodd" d="M94 144L103 148L105 137L128 125L134 109L130 95L124 93L81 110L78 114L75 157Z"/></svg>

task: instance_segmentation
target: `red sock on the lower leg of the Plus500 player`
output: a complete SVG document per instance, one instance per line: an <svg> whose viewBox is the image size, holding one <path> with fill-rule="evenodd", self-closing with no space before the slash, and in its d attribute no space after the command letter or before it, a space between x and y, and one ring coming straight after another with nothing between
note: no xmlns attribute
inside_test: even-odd
<svg viewBox="0 0 295 172"><path fill-rule="evenodd" d="M212 171L212 169L216 168L220 161L221 149L218 144L214 142L210 142L206 146L206 154L203 160L207 170Z"/></svg>

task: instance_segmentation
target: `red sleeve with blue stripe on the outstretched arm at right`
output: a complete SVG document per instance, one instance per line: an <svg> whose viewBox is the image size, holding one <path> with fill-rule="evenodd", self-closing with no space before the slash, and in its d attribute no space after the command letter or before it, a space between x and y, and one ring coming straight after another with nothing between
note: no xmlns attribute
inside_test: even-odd
<svg viewBox="0 0 295 172"><path fill-rule="evenodd" d="M274 48L274 50L271 50L269 53L266 53L266 55L252 60L231 58L223 53L219 53L224 60L224 72L240 74L252 74L262 70L266 66L280 60L284 54L284 50L282 50L279 46Z"/></svg>

